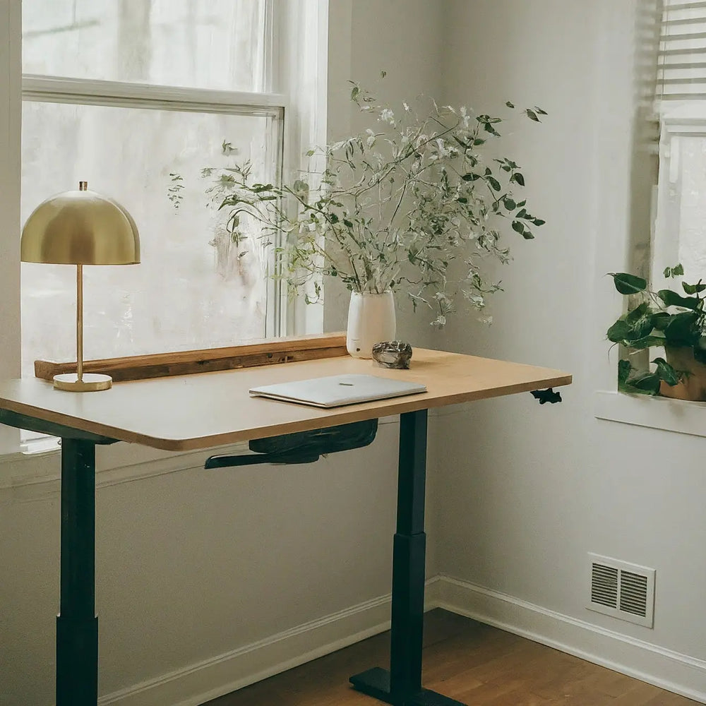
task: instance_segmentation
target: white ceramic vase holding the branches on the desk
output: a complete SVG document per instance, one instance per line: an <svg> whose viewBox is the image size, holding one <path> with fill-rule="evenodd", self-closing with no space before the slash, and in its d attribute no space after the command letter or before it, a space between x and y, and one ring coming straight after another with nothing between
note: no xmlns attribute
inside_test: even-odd
<svg viewBox="0 0 706 706"><path fill-rule="evenodd" d="M351 292L346 347L354 358L372 358L373 345L395 340L395 299L392 292Z"/></svg>

